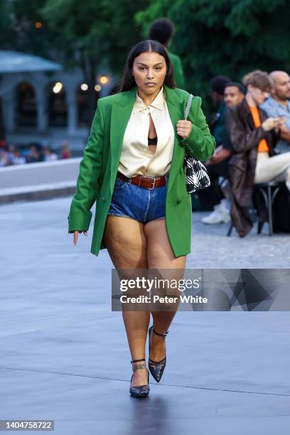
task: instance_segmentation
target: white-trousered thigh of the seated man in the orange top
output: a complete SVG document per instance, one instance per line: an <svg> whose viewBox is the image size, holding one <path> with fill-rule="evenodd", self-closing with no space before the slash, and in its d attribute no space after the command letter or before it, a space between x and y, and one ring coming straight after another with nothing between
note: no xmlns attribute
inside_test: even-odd
<svg viewBox="0 0 290 435"><path fill-rule="evenodd" d="M255 183L267 183L267 181L283 181L286 171L290 168L290 152L269 157L256 166Z"/></svg>

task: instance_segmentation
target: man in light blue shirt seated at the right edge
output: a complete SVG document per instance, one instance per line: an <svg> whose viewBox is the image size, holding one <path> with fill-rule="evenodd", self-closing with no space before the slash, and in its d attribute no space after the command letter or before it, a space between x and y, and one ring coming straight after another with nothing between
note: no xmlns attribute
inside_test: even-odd
<svg viewBox="0 0 290 435"><path fill-rule="evenodd" d="M271 96L260 107L268 117L285 118L275 146L275 152L281 154L290 151L290 77L284 71L273 71L269 77L272 80Z"/></svg>

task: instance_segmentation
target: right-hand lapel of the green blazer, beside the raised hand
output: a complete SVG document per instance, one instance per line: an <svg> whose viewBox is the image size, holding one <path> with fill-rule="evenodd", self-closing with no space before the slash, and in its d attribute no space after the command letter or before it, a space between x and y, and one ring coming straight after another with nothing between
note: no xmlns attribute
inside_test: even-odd
<svg viewBox="0 0 290 435"><path fill-rule="evenodd" d="M180 119L183 119L183 114L181 113L181 102L178 100L176 92L166 85L164 86L165 94L166 94L166 104L168 107L168 112L171 118L171 122L173 124L173 129L175 133L174 137L174 145L173 145L173 155L171 161L171 168L168 178L168 186L167 190L171 190L173 185L173 181L176 178L178 173L178 168L181 166L181 161L184 158L184 149L181 146L178 134L176 133L176 124Z"/></svg>

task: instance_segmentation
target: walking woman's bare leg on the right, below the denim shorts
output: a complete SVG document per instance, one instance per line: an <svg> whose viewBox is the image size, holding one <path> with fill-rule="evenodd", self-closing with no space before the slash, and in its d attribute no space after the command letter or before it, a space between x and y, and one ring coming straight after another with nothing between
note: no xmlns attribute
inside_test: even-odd
<svg viewBox="0 0 290 435"><path fill-rule="evenodd" d="M171 269L168 276L175 279L183 279L184 268L186 267L186 255L174 257L166 231L165 219L151 220L144 225L144 233L147 239L147 262L149 269ZM178 306L176 306L176 309ZM156 332L164 333L168 330L173 321L176 311L151 311L154 329ZM165 340L163 337L151 334L150 358L160 361L165 354Z"/></svg>

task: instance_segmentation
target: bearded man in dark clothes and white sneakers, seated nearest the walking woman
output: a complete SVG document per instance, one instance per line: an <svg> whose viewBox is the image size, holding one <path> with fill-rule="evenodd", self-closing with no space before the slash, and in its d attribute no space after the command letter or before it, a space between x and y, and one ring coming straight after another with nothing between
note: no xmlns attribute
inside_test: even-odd
<svg viewBox="0 0 290 435"><path fill-rule="evenodd" d="M227 82L224 87L222 104L226 107L232 107L239 104L244 98L244 87L237 82ZM225 119L220 119L216 124L219 125L218 133L220 133L221 121L224 123ZM216 125L215 124L215 125ZM224 124L222 124L224 125ZM218 178L228 178L227 162L232 156L234 149L230 144L230 139L227 134L227 129L222 130L222 136L217 133L215 126L213 127L213 135L217 141L217 148L215 154L211 159L205 162L205 166L208 169L208 175L210 176L210 186L204 190L198 191L198 198L200 204L203 207L213 208L213 213L202 219L205 224L215 223L227 223L230 222L230 204L227 200L228 193L225 187L220 188L218 184Z"/></svg>

